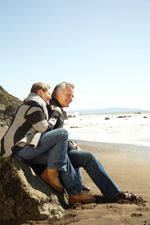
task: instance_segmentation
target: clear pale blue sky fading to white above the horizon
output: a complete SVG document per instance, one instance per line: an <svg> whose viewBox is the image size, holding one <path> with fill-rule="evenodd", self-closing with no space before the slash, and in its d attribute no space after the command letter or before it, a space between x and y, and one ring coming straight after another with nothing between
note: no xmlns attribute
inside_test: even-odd
<svg viewBox="0 0 150 225"><path fill-rule="evenodd" d="M0 0L0 85L75 85L70 109L150 109L150 0Z"/></svg>

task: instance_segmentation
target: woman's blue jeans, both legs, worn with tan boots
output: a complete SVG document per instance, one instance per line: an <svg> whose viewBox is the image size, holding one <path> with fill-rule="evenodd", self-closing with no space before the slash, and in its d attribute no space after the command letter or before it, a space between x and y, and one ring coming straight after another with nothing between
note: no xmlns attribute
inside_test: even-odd
<svg viewBox="0 0 150 225"><path fill-rule="evenodd" d="M83 189L68 157L68 132L64 128L43 133L36 148L26 145L15 155L27 163L44 164L48 169L60 170L60 179L69 196Z"/></svg>

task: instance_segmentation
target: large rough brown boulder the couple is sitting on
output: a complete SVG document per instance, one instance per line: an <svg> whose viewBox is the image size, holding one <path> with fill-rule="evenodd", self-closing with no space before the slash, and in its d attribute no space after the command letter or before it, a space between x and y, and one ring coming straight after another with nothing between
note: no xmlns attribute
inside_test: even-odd
<svg viewBox="0 0 150 225"><path fill-rule="evenodd" d="M0 158L0 220L60 219L65 214L65 197L24 162Z"/></svg>

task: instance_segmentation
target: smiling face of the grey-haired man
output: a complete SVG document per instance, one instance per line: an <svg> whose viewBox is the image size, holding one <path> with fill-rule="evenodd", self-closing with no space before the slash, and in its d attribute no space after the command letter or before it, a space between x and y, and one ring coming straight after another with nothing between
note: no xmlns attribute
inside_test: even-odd
<svg viewBox="0 0 150 225"><path fill-rule="evenodd" d="M70 87L65 88L65 90L62 92L57 91L56 93L56 99L59 101L61 107L69 107L69 104L72 102L74 97L74 90Z"/></svg>

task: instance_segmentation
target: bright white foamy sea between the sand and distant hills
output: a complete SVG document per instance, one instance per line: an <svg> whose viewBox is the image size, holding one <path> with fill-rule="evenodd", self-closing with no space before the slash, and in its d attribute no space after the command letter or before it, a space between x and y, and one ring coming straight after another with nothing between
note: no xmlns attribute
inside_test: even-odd
<svg viewBox="0 0 150 225"><path fill-rule="evenodd" d="M149 147L150 112L77 115L65 120L69 138Z"/></svg>

